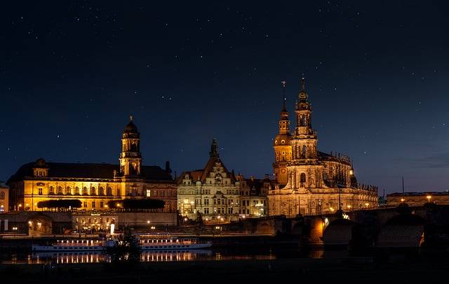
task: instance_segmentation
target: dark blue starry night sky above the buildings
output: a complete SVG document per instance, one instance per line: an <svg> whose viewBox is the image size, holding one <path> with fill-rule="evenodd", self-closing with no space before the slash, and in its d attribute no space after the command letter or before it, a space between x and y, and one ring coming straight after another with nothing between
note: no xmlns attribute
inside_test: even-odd
<svg viewBox="0 0 449 284"><path fill-rule="evenodd" d="M39 157L118 164L129 115L144 164L201 169L216 137L262 178L281 80L293 129L304 76L319 150L359 182L449 190L445 1L152 2L1 3L0 180Z"/></svg>

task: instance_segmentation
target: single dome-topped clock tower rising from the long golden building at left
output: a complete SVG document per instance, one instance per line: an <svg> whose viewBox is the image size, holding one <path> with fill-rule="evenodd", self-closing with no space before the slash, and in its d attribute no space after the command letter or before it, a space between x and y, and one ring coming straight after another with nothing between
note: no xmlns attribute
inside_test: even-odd
<svg viewBox="0 0 449 284"><path fill-rule="evenodd" d="M140 176L142 171L142 155L140 154L140 134L138 127L130 116L129 123L121 136L120 173L124 178Z"/></svg>

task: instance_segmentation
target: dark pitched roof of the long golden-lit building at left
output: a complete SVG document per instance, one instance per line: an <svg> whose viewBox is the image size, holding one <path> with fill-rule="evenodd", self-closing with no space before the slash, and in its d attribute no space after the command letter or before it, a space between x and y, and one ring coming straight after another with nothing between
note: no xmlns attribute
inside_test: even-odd
<svg viewBox="0 0 449 284"><path fill-rule="evenodd" d="M23 164L18 171L9 178L8 183L14 180L23 180L33 176L35 162ZM120 172L118 164L84 164L84 163L53 163L47 162L49 178L114 178L114 170ZM147 180L172 180L170 173L160 166L142 166L142 176Z"/></svg>

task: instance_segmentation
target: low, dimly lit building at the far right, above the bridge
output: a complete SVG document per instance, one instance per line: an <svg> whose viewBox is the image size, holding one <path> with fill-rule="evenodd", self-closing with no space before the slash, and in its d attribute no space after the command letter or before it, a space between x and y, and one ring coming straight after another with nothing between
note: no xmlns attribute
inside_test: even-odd
<svg viewBox="0 0 449 284"><path fill-rule="evenodd" d="M387 206L408 204L409 206L422 206L427 203L449 205L449 192L395 192L387 194Z"/></svg>

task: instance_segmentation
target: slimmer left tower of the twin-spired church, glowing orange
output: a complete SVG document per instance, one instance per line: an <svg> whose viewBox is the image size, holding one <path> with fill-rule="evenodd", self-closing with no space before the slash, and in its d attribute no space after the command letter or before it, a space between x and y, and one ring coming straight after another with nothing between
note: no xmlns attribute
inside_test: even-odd
<svg viewBox="0 0 449 284"><path fill-rule="evenodd" d="M279 118L279 133L274 138L274 163L273 171L279 187L287 184L288 173L287 163L292 158L292 148L290 145L290 120L286 108L286 81L282 81L282 104L281 118Z"/></svg>

